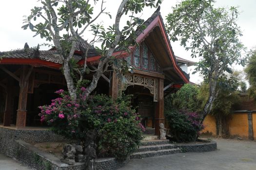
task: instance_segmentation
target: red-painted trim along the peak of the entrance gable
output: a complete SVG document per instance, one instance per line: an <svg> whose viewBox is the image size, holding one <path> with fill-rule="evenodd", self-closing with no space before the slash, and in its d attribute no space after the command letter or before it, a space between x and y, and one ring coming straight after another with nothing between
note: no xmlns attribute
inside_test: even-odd
<svg viewBox="0 0 256 170"><path fill-rule="evenodd" d="M177 73L181 76L181 78L183 79L183 81L185 83L189 83L189 80L187 79L187 77L183 74L183 72L180 70L180 68L177 66L177 63L175 62L175 58L173 55L173 51L172 48L169 45L169 40L168 37L166 36L164 27L163 27L163 23L161 21L160 16L156 17L150 24L149 26L143 31L143 33L139 34L138 37L136 38L136 41L139 43L141 40L143 40L145 38L145 36L152 30L154 29L157 25L159 24L160 30L162 32L164 41L167 45L167 50L169 52L169 56L172 60L173 66L175 68L175 70L177 71Z"/></svg>

